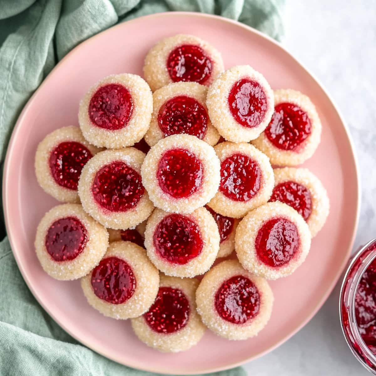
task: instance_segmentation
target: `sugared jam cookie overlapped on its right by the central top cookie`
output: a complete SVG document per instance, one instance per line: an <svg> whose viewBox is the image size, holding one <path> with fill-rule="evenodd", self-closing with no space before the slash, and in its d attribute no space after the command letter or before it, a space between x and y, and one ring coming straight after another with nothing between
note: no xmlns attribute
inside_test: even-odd
<svg viewBox="0 0 376 376"><path fill-rule="evenodd" d="M141 181L144 158L145 154L133 147L105 150L83 168L78 184L82 206L103 226L128 229L153 211Z"/></svg>

